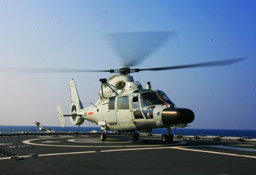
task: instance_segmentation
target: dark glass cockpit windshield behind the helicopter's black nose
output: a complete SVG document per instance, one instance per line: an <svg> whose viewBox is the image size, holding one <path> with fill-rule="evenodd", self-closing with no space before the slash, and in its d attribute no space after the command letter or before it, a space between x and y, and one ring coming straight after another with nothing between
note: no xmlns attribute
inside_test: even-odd
<svg viewBox="0 0 256 175"><path fill-rule="evenodd" d="M152 105L160 105L160 104L163 105L164 103L168 103L174 106L171 100L162 91L157 91L157 92L151 91L151 92L141 93L142 108L146 108L147 106L152 106Z"/></svg>

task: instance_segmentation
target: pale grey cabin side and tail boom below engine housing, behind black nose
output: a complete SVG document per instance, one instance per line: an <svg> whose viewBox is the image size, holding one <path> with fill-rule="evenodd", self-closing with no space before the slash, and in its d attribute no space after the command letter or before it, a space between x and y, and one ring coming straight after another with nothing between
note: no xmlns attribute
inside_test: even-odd
<svg viewBox="0 0 256 175"><path fill-rule="evenodd" d="M160 114L165 108L164 105L148 106L143 112L139 92L123 92L121 95L112 97L109 100L96 106L81 110L82 117L106 126L110 130L143 130L156 127L163 127ZM137 102L133 102L138 99ZM136 100L135 100L136 101Z"/></svg>

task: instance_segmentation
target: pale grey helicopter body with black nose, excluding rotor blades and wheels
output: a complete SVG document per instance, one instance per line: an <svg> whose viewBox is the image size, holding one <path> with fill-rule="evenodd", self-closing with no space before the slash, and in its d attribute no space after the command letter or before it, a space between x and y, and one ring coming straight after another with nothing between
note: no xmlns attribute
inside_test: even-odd
<svg viewBox="0 0 256 175"><path fill-rule="evenodd" d="M104 130L151 132L159 127L185 127L194 119L191 110L180 112L164 92L151 89L150 84L143 89L141 83L134 82L133 76L114 75L109 78L108 86L102 84L101 87L97 103L77 110L78 118L71 117L74 125L81 125L77 121L86 119Z"/></svg>

